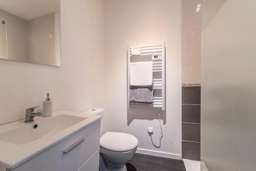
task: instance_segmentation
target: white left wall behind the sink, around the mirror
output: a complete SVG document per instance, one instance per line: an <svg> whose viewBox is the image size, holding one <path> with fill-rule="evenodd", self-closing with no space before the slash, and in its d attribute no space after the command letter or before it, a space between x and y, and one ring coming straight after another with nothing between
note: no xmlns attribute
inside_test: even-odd
<svg viewBox="0 0 256 171"><path fill-rule="evenodd" d="M46 92L54 110L102 106L103 8L103 0L61 0L61 68L0 60L0 124L23 119Z"/></svg>

